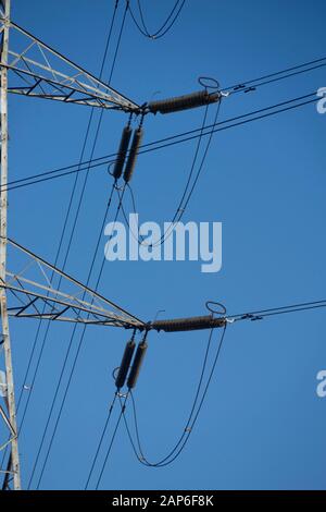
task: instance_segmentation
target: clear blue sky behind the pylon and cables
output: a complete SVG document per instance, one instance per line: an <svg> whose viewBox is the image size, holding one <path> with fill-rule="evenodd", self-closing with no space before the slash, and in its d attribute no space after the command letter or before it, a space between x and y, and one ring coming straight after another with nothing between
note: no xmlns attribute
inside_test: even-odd
<svg viewBox="0 0 326 512"><path fill-rule="evenodd" d="M12 3L16 23L99 73L113 1ZM154 28L174 0L142 3ZM136 1L131 4L136 10ZM121 0L105 76L123 5ZM173 29L156 41L145 39L128 16L112 85L143 102L155 92L168 97L196 90L199 75L214 76L226 86L317 59L325 54L325 15L323 0L188 0ZM224 101L221 119L322 86L325 69L234 96ZM145 142L198 127L202 113L148 119ZM11 97L10 178L78 161L88 117L85 107ZM96 156L115 151L125 121L120 112L104 112ZM167 317L204 314L209 298L223 302L229 313L324 298L325 127L326 115L318 115L312 105L217 133L185 220L223 222L222 271L201 273L198 263L106 263L101 293L146 320L159 309ZM192 142L139 158L133 186L141 219L171 219L193 150ZM10 195L10 235L50 261L73 180ZM80 280L87 276L110 187L104 168L91 172L66 267ZM11 326L20 388L37 322L13 320ZM72 326L62 325L50 331L20 440L25 487L71 331ZM84 488L114 392L111 371L120 364L127 338L113 328L87 330L41 488ZM164 455L183 429L206 338L206 332L149 337L136 397L151 459ZM122 425L101 487L325 489L326 400L315 392L316 374L325 368L323 310L231 326L208 401L180 459L166 468L142 467ZM53 419L49 434L52 428ZM101 456L106 446L108 440ZM43 456L45 451L40 462Z"/></svg>

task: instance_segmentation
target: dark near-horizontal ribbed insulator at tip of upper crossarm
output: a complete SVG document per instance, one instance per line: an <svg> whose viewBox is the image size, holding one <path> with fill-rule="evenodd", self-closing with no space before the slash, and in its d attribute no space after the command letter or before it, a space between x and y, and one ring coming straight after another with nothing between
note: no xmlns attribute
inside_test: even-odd
<svg viewBox="0 0 326 512"><path fill-rule="evenodd" d="M221 99L221 93L210 94L208 90L200 90L185 96L177 96L170 99L150 101L148 109L152 113L171 113L179 110L195 109L204 105L215 103Z"/></svg>

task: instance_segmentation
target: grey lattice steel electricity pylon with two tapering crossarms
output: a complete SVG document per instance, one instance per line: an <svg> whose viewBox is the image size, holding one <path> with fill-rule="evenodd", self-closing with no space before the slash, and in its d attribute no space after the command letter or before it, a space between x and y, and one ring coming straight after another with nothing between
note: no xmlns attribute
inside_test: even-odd
<svg viewBox="0 0 326 512"><path fill-rule="evenodd" d="M2 336L0 338L0 351L3 349L5 380L1 385L1 394L4 399L7 413L0 406L0 422L3 422L10 432L9 444L11 448L9 464L5 474L3 488L9 488L13 481L13 489L21 489L21 470L17 441L17 423L14 398L14 380L11 339L9 329L9 313L15 316L28 315L28 308L34 308L36 317L40 318L36 306L37 301L47 304L45 309L47 319L66 319L68 321L96 322L104 325L116 325L126 327L130 325L136 327L139 322L118 306L104 300L91 290L86 289L80 283L74 281L74 285L79 285L83 294L89 293L91 301L87 302L80 297L64 294L51 288L50 282L43 288L43 294L38 291L35 294L33 290L26 291L22 285L17 285L15 276L11 276L11 284L8 283L7 272L7 214L8 214L8 93L20 94L34 98L51 99L65 103L77 103L102 109L115 109L125 112L138 112L139 106L129 100L115 89L96 78L91 73L72 62L63 54L55 51L42 42L37 37L29 34L11 21L11 0L0 0L0 78L1 78L1 178L0 178L0 309ZM11 41L16 45L16 49L9 46L9 36ZM15 82L10 86L10 78ZM16 245L17 247L17 245ZM26 254L26 253L25 253ZM32 254L29 253L32 257ZM41 267L47 265L45 261L35 257ZM49 268L49 267L48 267ZM54 269L51 269L54 271ZM63 276L61 276L63 277ZM64 276L64 279L68 278ZM32 282L25 283L30 287L37 285ZM11 287L11 288L10 288ZM16 288L16 289L15 289ZM22 291L23 290L23 291ZM79 290L79 291L80 291ZM29 292L29 293L28 293ZM8 308L8 293L23 294L26 303L20 308ZM108 307L110 308L108 309ZM112 310L113 309L113 310ZM73 315L67 317L66 313ZM4 447L0 446L0 451Z"/></svg>

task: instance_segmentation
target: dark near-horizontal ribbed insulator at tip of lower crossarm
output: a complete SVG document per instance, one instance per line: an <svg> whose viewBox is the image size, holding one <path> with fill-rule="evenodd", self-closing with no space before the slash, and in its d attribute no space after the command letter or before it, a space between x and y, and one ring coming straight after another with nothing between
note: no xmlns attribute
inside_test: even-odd
<svg viewBox="0 0 326 512"><path fill-rule="evenodd" d="M223 317L196 316L191 318L175 318L173 320L156 320L152 322L151 328L165 332L193 331L224 327L225 322L226 319Z"/></svg>

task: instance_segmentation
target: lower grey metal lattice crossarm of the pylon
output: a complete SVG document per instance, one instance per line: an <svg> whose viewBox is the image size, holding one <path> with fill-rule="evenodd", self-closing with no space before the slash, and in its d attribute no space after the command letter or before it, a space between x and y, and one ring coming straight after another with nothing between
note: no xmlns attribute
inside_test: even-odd
<svg viewBox="0 0 326 512"><path fill-rule="evenodd" d="M5 282L0 281L8 292L10 316L143 328L141 320L10 239L8 248L11 261L21 267L7 271Z"/></svg>

